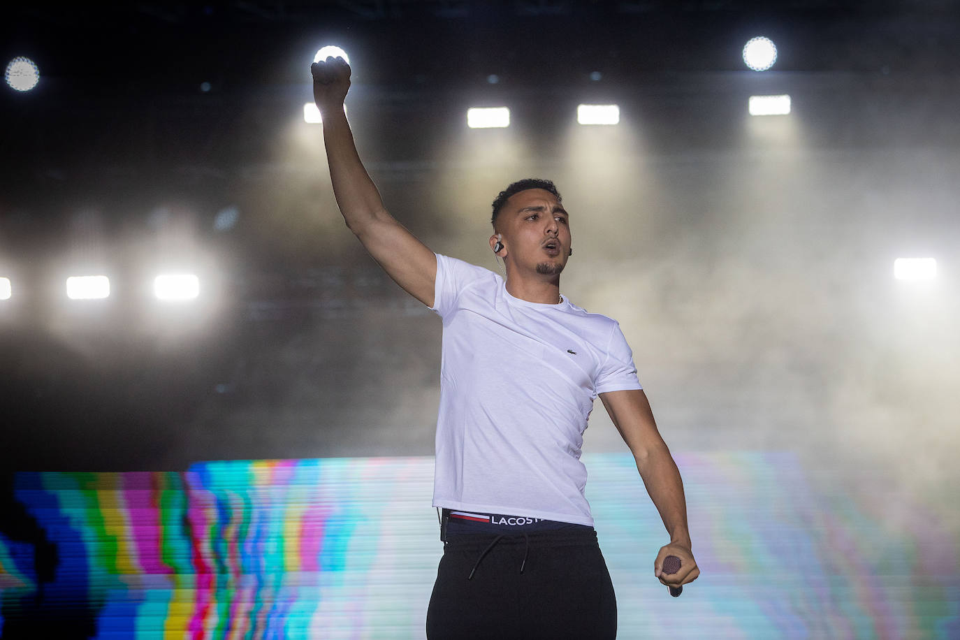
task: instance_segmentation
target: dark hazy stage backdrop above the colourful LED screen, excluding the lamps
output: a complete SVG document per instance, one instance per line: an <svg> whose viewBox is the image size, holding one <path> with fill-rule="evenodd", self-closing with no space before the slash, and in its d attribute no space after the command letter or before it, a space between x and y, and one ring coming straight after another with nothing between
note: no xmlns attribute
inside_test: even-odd
<svg viewBox="0 0 960 640"><path fill-rule="evenodd" d="M431 249L497 269L489 203L557 180L564 294L620 320L676 449L956 482L960 20L948 2L224 2L5 12L0 463L430 455L440 321L343 225L302 121L325 44L360 152ZM756 35L774 70L745 69ZM599 81L590 73L599 71ZM495 74L497 83L488 77ZM208 83L208 90L204 90ZM790 116L750 118L754 94ZM613 130L571 124L613 101ZM509 130L464 113L507 105ZM940 277L892 278L900 256ZM195 304L151 300L161 264ZM105 301L62 280L108 273ZM620 450L597 404L588 450Z"/></svg>

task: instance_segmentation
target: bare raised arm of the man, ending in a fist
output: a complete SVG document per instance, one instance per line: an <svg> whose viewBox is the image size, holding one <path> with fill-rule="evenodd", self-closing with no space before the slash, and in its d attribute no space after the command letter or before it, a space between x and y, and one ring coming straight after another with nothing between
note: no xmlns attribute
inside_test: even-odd
<svg viewBox="0 0 960 640"><path fill-rule="evenodd" d="M314 62L310 71L313 97L324 119L333 195L347 226L396 284L432 307L437 256L390 215L353 144L344 112L349 65L341 58L327 58Z"/></svg>

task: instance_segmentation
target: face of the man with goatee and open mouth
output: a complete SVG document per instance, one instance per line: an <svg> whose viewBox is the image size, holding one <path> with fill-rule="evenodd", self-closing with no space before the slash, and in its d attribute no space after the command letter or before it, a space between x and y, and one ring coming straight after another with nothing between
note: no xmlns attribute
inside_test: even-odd
<svg viewBox="0 0 960 640"><path fill-rule="evenodd" d="M557 197L544 189L520 191L497 219L508 260L518 272L559 275L570 254L569 216Z"/></svg>

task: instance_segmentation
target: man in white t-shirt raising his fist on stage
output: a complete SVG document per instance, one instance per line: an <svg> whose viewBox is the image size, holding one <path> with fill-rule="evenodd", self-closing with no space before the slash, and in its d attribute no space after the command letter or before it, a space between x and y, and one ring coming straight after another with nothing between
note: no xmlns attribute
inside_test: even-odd
<svg viewBox="0 0 960 640"><path fill-rule="evenodd" d="M444 319L434 506L444 557L427 612L430 638L612 638L616 603L584 497L582 435L599 395L636 458L670 542L654 575L700 574L680 472L660 438L633 354L614 320L560 293L569 215L547 180L493 202L490 247L506 280L433 253L386 210L344 113L350 69L311 67L337 204L374 260ZM662 572L665 557L681 568Z"/></svg>

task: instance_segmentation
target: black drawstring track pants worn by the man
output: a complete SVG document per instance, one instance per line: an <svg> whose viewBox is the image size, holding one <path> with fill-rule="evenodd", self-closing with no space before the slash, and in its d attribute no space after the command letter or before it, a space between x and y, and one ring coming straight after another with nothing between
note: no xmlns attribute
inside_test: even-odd
<svg viewBox="0 0 960 640"><path fill-rule="evenodd" d="M616 597L596 532L496 538L449 536L427 610L427 638L616 637Z"/></svg>

